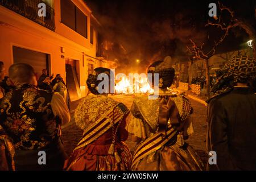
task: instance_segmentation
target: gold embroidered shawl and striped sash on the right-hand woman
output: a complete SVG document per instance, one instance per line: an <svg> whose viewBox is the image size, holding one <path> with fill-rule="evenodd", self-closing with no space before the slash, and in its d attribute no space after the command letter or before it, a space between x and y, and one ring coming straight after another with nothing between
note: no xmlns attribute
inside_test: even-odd
<svg viewBox="0 0 256 182"><path fill-rule="evenodd" d="M165 93L159 97L171 97L170 99L173 100L177 106L181 121L186 121L186 119L192 113L191 104L189 100L184 96ZM135 98L134 104L134 108L137 107L141 113L143 121L148 123L151 129L154 129L155 134L144 140L144 142L141 144L138 144L138 146L135 148L133 163L131 166L132 169L136 169L139 162L145 157L147 157L147 162L154 160L154 152L163 147L164 144L166 144L169 140L172 139L172 137L176 135L176 131L173 128L170 128L170 122L168 122L170 129L167 131L167 135L169 135L169 137L162 140L162 136L156 132L159 117L159 100L148 100L147 96L142 96ZM131 133L133 133L133 131L131 131Z"/></svg>

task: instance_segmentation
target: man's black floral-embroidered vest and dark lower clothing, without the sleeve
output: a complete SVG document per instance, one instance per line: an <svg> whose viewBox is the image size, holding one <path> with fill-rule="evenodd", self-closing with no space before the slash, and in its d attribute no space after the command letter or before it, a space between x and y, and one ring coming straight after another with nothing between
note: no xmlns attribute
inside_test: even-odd
<svg viewBox="0 0 256 182"><path fill-rule="evenodd" d="M52 98L53 93L24 84L6 93L1 101L0 125L13 140L18 170L60 169L61 161L64 163L61 119L53 114ZM47 153L47 165L38 164L41 150Z"/></svg>

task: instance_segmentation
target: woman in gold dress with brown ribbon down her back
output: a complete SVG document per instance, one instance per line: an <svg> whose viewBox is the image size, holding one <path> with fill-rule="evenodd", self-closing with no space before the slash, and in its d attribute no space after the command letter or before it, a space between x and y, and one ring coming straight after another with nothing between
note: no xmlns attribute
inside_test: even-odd
<svg viewBox="0 0 256 182"><path fill-rule="evenodd" d="M191 104L184 96L167 90L175 76L171 57L151 64L148 73L159 74L159 97L155 100L148 100L148 96L135 97L131 106L127 131L137 142L131 169L202 170L199 156L185 142L193 133Z"/></svg>

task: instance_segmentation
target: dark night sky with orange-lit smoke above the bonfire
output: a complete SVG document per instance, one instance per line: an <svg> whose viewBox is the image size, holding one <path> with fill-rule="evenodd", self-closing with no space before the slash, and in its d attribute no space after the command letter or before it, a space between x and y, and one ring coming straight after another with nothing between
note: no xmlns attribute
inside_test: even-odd
<svg viewBox="0 0 256 182"><path fill-rule="evenodd" d="M208 5L217 1L168 1L168 0L88 0L85 1L102 24L102 32L112 40L112 59L119 68L144 71L153 61L170 55L179 61L187 60L186 46L189 39L198 45L205 43L207 50L222 35L216 27L205 27ZM222 1L237 16L254 24L255 0ZM219 11L217 11L218 16ZM245 48L248 36L240 28L230 31L217 52ZM139 59L140 63L136 63ZM130 68L132 67L132 68Z"/></svg>

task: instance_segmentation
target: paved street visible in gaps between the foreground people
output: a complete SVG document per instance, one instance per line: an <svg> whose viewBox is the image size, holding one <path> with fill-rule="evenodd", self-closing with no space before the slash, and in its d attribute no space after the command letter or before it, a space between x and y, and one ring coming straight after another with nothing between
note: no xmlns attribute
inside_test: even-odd
<svg viewBox="0 0 256 182"><path fill-rule="evenodd" d="M123 102L129 108L131 107L131 104L134 99L134 96L124 95L115 95L110 97L112 97L114 100ZM74 108L77 104L78 102L73 104L72 107ZM193 148L195 148L195 150L205 163L207 162L207 155L205 153L205 138L207 132L207 107L194 100L191 100L191 104L194 109L194 112L192 114L194 133L191 135L191 137L189 137L187 142L191 144ZM73 148L75 148L76 144L79 142L82 136L82 130L75 125L72 117L71 123L68 123L67 125L63 126L62 133L64 147L67 154L69 155L73 151ZM130 150L133 150L135 143L131 142L130 138L127 140L127 144L129 145Z"/></svg>

